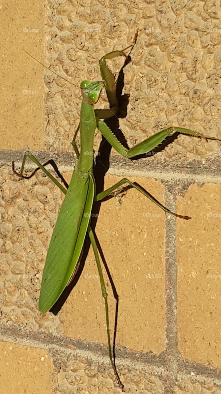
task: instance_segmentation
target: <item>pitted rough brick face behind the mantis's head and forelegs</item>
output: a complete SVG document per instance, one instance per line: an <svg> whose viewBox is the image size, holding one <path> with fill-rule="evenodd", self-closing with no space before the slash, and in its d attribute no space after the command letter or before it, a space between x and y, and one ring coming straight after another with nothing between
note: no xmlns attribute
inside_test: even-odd
<svg viewBox="0 0 221 394"><path fill-rule="evenodd" d="M101 56L131 45L138 31L132 63L124 69L123 92L130 95L127 117L120 120L130 146L168 126L220 137L218 5L113 1L107 7L101 0L52 2L50 7L46 48L51 69L71 77L68 80L78 86L85 78L99 80ZM109 64L117 73L123 59ZM52 72L46 74L50 91L45 100L49 119L45 146L71 151L71 137L79 122L79 89ZM96 148L99 141L96 132ZM218 151L216 141L206 144L180 136L161 155L199 158Z"/></svg>

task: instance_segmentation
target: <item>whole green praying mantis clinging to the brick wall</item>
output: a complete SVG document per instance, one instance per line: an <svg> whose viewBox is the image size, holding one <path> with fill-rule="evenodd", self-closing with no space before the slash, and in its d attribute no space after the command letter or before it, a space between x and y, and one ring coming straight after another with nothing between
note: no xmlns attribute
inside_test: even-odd
<svg viewBox="0 0 221 394"><path fill-rule="evenodd" d="M126 48L127 49L127 48ZM109 330L109 313L107 303L107 292L105 282L103 279L103 273L101 270L101 264L98 255L98 248L96 245L96 239L94 233L90 227L90 214L92 210L92 204L94 201L101 201L114 190L120 188L124 184L129 184L131 187L140 191L147 198L151 199L165 212L173 214L182 219L190 219L188 216L182 216L171 212L162 204L158 203L153 197L145 192L137 184L130 182L127 178L123 178L120 182L116 183L109 189L102 191L96 195L95 182L93 177L93 139L96 127L101 134L107 139L114 149L127 158L133 158L139 154L145 154L155 147L157 147L164 139L174 132L182 134L188 134L191 136L197 136L201 138L215 139L221 141L218 138L203 136L195 131L188 130L181 127L169 127L157 134L145 139L141 143L138 143L131 149L126 149L118 141L118 139L111 132L109 127L101 121L101 119L107 119L115 116L118 112L118 100L116 99L116 85L114 76L107 66L106 60L112 59L116 56L124 56L127 58L124 50L116 50L109 52L103 56L99 61L102 81L90 82L84 80L81 82L81 93L82 93L82 104L80 123L75 132L72 140L72 146L76 152L78 162L74 168L72 179L68 190L66 190L56 178L54 178L46 168L39 163L39 161L30 152L24 155L20 173L17 173L14 168L13 171L21 178L23 176L24 165L26 158L30 158L65 194L63 204L61 206L60 214L57 218L55 228L53 230L52 238L50 241L48 254L44 266L44 272L42 276L41 293L39 299L39 310L44 313L49 310L61 296L64 288L73 279L76 274L79 259L81 258L81 252L83 249L83 243L85 240L86 233L90 238L90 242L94 251L96 264L98 267L99 278L101 282L102 296L105 300L105 312L106 312L106 325L107 325L107 338L109 347L109 357L114 370L114 374L118 381L120 388L123 390L123 384L120 381L120 377L116 370L115 362L112 355L112 349L110 344L110 330ZM109 101L110 109L107 110L94 110L94 104L98 101L101 91L105 87L107 98ZM81 149L80 152L76 145L76 136L80 130L81 134Z"/></svg>

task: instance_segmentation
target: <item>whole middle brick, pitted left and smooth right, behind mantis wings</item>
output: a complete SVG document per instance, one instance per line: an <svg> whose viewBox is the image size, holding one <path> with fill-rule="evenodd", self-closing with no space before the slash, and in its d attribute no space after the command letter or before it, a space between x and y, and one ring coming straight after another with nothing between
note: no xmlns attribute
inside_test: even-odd
<svg viewBox="0 0 221 394"><path fill-rule="evenodd" d="M5 170L2 173L3 177L7 174ZM118 180L119 177L107 175L105 188ZM159 181L133 177L130 180L136 180L163 201ZM61 329L57 316L35 314L33 305L35 297L39 297L39 276L61 206L61 192L41 174L28 181L14 177L13 182L11 177L4 182L3 190L6 220L2 232L8 248L2 264L9 271L6 269L2 310L13 322L30 323L35 329L38 325L46 330ZM164 232L164 212L136 190L101 204L96 233L119 293L118 343L136 350L151 349L157 354L164 349L165 341ZM62 309L61 321L68 336L106 343L100 283L99 279L90 279L90 275L98 275L92 251ZM115 303L107 278L105 282L113 327ZM73 313L77 316L74 322Z"/></svg>

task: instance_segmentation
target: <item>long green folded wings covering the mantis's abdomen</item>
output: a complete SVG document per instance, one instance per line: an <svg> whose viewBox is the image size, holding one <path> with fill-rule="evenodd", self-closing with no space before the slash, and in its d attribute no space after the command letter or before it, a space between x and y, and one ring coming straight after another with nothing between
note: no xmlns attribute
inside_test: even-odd
<svg viewBox="0 0 221 394"><path fill-rule="evenodd" d="M57 218L44 266L39 310L46 312L60 297L76 267L85 240L94 199L94 178L77 168Z"/></svg>

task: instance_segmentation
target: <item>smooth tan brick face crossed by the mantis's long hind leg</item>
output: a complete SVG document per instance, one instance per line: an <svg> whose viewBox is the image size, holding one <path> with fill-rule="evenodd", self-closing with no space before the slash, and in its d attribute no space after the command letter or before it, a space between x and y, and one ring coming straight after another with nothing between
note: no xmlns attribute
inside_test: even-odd
<svg viewBox="0 0 221 394"><path fill-rule="evenodd" d="M105 179L108 188L120 177L109 175ZM159 181L129 179L162 201ZM165 341L164 212L138 191L129 190L123 197L102 203L96 234L119 295L117 343L159 354ZM91 250L81 278L62 309L64 333L107 343L100 283L90 275L98 275ZM105 284L113 330L115 303L107 277Z"/></svg>

